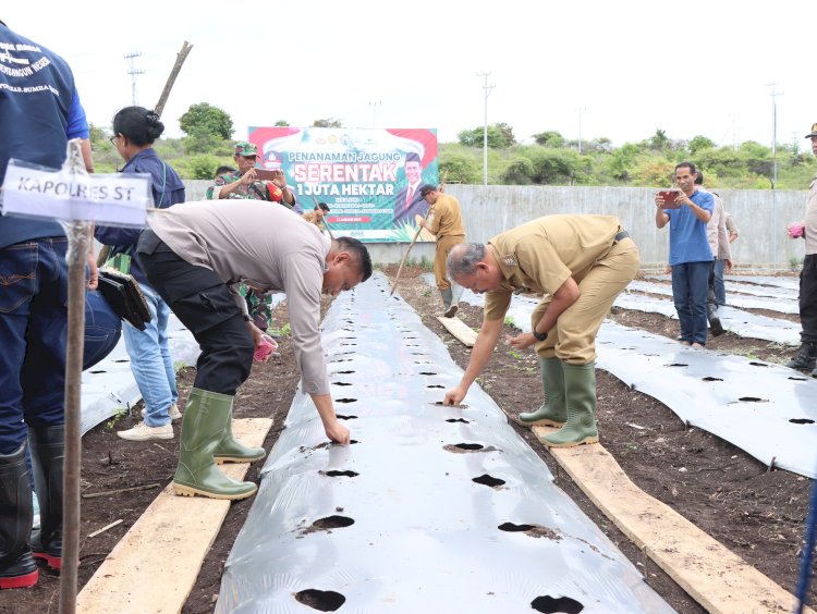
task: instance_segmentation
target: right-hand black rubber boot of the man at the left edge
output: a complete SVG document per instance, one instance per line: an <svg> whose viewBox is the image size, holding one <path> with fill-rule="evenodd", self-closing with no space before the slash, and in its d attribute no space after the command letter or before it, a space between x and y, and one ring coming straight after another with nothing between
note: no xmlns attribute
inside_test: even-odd
<svg viewBox="0 0 817 614"><path fill-rule="evenodd" d="M32 442L34 488L39 500L39 531L32 533L32 551L53 568L62 568L62 461L65 455L62 425L28 429Z"/></svg>

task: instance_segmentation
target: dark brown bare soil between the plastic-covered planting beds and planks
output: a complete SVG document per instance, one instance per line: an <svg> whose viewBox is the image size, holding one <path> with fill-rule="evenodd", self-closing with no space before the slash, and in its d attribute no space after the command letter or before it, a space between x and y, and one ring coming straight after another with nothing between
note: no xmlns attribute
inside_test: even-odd
<svg viewBox="0 0 817 614"><path fill-rule="evenodd" d="M393 275L394 268L387 269ZM441 309L436 290L428 287L419 268L404 269L400 294L423 317L426 327L450 341L449 333L432 317ZM325 305L326 307L326 305ZM478 328L481 309L463 305L458 314L467 326ZM780 315L775 315L780 317ZM674 339L678 321L656 314L615 309L614 320ZM276 326L286 321L285 305L276 311ZM508 334L514 329L505 327ZM295 385L300 379L289 336L279 341L280 357L256 364L235 402L237 418L268 417L275 420L265 447L270 450L282 429ZM467 365L470 351L448 343L453 359ZM741 339L730 333L710 340L709 349L783 361L793 351L763 340ZM180 406L195 377L194 369L180 373ZM483 388L509 416L529 412L541 403L538 360L533 351L509 352L500 345L481 376ZM605 371L597 371L598 420L601 443L613 454L627 476L645 492L659 499L696 524L769 578L794 592L803 529L808 512L812 481L784 470L769 469L740 449L696 428L687 428L656 400L631 390ZM162 442L127 442L115 431L138 421L139 406L115 423L97 426L83 438L84 494L130 487L158 484L82 500L81 587L90 578L119 539L173 476L176 439ZM557 477L568 493L645 575L647 582L682 613L705 612L655 563L646 558L615 526L584 495L542 447L533 433L511 422ZM643 427L634 428L632 425ZM246 479L257 480L260 463ZM680 468L685 471L679 471ZM252 499L233 503L224 525L204 562L198 581L183 612L212 612L223 564L241 529ZM88 533L117 519L123 523L97 536ZM808 603L817 602L817 582L812 582ZM57 612L59 576L41 569L38 585L27 590L0 593L0 612Z"/></svg>

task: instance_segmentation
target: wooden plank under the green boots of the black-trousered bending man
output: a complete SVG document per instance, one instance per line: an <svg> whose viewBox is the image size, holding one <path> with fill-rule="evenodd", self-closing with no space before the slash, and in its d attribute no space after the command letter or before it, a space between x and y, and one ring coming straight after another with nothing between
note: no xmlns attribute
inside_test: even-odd
<svg viewBox="0 0 817 614"><path fill-rule="evenodd" d="M269 418L233 420L233 434L245 445L264 443ZM241 480L248 463L220 466ZM88 614L181 612L202 563L216 540L230 501L176 496L168 486L113 548L76 599Z"/></svg>

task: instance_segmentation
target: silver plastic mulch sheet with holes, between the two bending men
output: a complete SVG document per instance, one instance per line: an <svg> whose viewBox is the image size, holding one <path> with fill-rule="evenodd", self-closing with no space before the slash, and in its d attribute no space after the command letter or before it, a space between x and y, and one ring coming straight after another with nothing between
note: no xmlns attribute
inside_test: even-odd
<svg viewBox="0 0 817 614"><path fill-rule="evenodd" d="M339 296L324 348L349 446L300 391L217 612L671 612L385 278Z"/></svg>

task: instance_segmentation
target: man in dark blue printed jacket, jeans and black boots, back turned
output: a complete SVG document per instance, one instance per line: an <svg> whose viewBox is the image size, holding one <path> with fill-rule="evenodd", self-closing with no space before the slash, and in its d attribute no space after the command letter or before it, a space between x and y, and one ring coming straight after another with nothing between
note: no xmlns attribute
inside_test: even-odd
<svg viewBox="0 0 817 614"><path fill-rule="evenodd" d="M89 147L68 63L3 22L0 45L2 185L10 158L56 169L69 139ZM37 582L33 554L61 567L66 248L57 221L0 216L0 589ZM34 540L26 435L41 509Z"/></svg>

